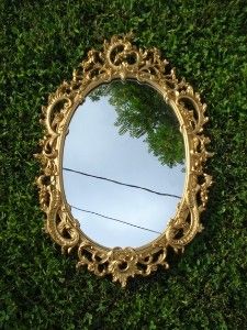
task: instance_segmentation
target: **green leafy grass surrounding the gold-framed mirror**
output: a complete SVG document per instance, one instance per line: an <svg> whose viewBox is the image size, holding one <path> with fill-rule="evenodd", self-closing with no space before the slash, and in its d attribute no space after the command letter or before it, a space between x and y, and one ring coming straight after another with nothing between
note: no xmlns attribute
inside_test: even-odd
<svg viewBox="0 0 247 330"><path fill-rule="evenodd" d="M48 95L130 30L207 103L215 183L182 257L122 289L43 233L33 154ZM0 0L0 328L247 329L247 2Z"/></svg>

